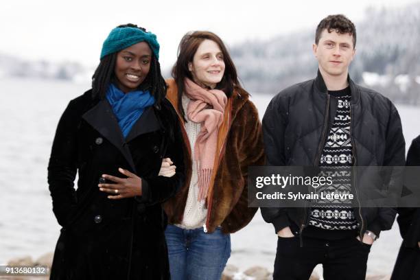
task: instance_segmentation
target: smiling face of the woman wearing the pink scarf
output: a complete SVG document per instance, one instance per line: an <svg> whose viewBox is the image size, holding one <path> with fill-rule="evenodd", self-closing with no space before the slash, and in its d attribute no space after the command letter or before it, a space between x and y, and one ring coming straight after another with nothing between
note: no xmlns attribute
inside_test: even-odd
<svg viewBox="0 0 420 280"><path fill-rule="evenodd" d="M214 89L224 74L224 59L222 51L213 40L203 40L198 46L188 69L196 84Z"/></svg>

